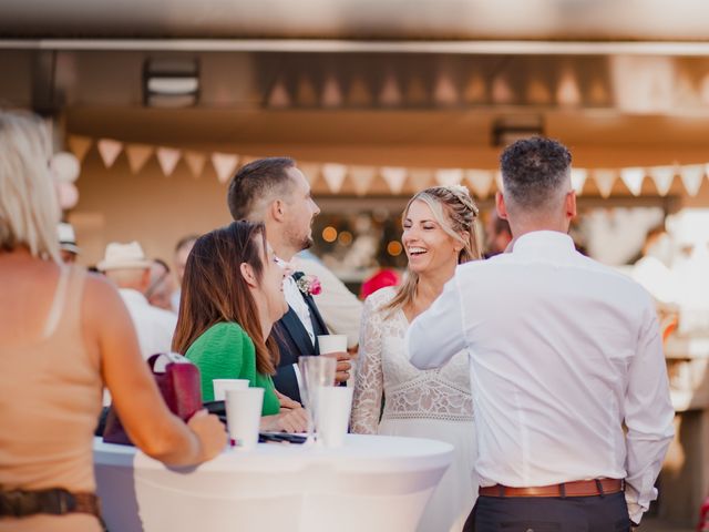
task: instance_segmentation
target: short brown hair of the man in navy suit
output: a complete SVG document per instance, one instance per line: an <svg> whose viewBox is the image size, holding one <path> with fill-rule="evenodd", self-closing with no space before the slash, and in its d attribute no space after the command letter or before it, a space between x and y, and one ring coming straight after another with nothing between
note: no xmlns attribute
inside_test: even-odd
<svg viewBox="0 0 709 532"><path fill-rule="evenodd" d="M290 177L287 171L296 166L290 157L259 158L239 168L227 193L227 204L234 219L249 219L254 215L257 198L274 190L288 192Z"/></svg>

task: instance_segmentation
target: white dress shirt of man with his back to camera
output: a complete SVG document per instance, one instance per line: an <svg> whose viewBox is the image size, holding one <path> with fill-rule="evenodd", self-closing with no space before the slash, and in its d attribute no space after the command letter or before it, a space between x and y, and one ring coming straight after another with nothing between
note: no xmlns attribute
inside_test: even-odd
<svg viewBox="0 0 709 532"><path fill-rule="evenodd" d="M578 254L567 235L528 233L512 253L459 266L407 344L422 369L469 350L481 485L626 479L639 522L675 412L655 308L638 284Z"/></svg>

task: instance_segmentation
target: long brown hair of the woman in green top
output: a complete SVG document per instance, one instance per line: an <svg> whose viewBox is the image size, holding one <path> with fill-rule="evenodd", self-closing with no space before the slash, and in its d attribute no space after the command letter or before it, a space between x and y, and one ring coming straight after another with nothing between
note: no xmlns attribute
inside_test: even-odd
<svg viewBox="0 0 709 532"><path fill-rule="evenodd" d="M264 338L256 301L240 272L243 263L249 264L260 283L266 249L260 223L233 222L197 238L185 266L174 351L184 354L213 325L235 321L254 341L258 372L276 372L278 346Z"/></svg>

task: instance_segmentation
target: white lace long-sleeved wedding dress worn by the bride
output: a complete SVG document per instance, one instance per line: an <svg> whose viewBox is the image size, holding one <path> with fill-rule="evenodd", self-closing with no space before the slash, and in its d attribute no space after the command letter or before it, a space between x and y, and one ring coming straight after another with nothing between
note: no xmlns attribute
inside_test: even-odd
<svg viewBox="0 0 709 532"><path fill-rule="evenodd" d="M382 310L393 296L394 288L387 287L364 303L351 430L451 443L455 448L453 463L433 492L417 530L458 532L477 497L467 355L459 352L439 369L413 367L404 349L409 321L403 310Z"/></svg>

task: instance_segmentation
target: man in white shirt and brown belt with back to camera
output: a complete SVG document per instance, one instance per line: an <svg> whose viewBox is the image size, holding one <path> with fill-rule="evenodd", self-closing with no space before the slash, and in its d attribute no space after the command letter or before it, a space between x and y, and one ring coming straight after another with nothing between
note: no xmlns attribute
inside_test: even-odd
<svg viewBox="0 0 709 532"><path fill-rule="evenodd" d="M481 488L465 530L630 530L674 434L653 301L574 249L566 147L517 141L501 166L511 253L459 266L407 335L422 369L470 354Z"/></svg>

